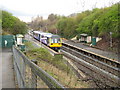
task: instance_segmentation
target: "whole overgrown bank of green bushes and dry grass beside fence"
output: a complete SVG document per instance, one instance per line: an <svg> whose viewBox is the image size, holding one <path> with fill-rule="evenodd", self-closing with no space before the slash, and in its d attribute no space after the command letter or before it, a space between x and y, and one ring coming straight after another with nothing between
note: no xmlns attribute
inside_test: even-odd
<svg viewBox="0 0 120 90"><path fill-rule="evenodd" d="M66 60L61 56L52 56L46 49L34 48L33 43L26 42L27 52L26 55L29 59L36 59L38 66L49 73L52 77L58 80L64 87L67 88L88 88L87 82L82 82L65 64Z"/></svg>

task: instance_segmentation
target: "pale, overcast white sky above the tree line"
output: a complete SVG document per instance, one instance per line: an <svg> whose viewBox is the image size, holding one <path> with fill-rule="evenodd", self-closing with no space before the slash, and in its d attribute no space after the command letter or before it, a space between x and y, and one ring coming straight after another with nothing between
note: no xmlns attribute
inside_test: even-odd
<svg viewBox="0 0 120 90"><path fill-rule="evenodd" d="M0 8L13 14L24 22L32 17L47 19L51 13L68 16L93 8L103 8L120 0L1 0Z"/></svg>

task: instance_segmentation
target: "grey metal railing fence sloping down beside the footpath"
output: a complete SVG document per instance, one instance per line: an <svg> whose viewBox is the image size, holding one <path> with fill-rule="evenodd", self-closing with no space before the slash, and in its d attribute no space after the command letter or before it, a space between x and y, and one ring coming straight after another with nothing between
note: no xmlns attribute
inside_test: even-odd
<svg viewBox="0 0 120 90"><path fill-rule="evenodd" d="M13 62L19 88L64 89L53 77L29 60L17 47L13 46Z"/></svg>

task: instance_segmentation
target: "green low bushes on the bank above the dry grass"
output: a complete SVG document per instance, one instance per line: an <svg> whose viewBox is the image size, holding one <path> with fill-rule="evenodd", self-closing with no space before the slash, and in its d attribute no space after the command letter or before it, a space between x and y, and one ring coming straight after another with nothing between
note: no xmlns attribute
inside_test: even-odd
<svg viewBox="0 0 120 90"><path fill-rule="evenodd" d="M44 60L61 70L68 70L67 66L63 64L63 59L61 58L61 56L53 57L46 49L42 47L35 48L34 46L32 46L31 42L26 42L25 45L27 48L29 48L29 50L27 51L27 55L30 57L31 60Z"/></svg>

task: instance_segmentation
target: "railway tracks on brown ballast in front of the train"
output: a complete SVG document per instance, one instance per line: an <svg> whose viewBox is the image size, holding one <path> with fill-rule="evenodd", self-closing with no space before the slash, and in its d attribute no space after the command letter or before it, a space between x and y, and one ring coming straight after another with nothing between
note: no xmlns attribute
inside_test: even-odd
<svg viewBox="0 0 120 90"><path fill-rule="evenodd" d="M61 52L100 87L120 88L120 62L63 43Z"/></svg>

